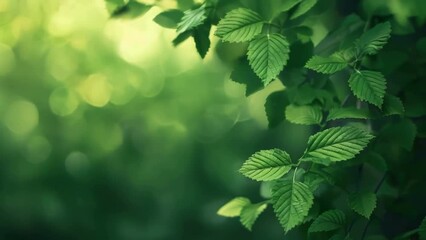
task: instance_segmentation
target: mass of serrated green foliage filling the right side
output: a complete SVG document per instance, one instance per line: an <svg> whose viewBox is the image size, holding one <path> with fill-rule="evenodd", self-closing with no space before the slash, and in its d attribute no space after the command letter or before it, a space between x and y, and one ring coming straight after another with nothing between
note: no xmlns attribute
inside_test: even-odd
<svg viewBox="0 0 426 240"><path fill-rule="evenodd" d="M110 10L112 17L135 17L145 11L137 1L118 2L107 1L117 6ZM405 11L397 11L395 2ZM284 120L312 125L302 154L274 148L243 163L244 176L271 183L265 201L236 198L218 214L239 216L251 230L270 204L285 233L296 227L304 231L310 224L305 233L316 239L393 238L409 228L388 231L389 223L383 219L388 214L403 216L408 210L393 205L421 191L413 186L422 187L417 179L422 171L415 165L420 164L421 150L416 143L425 137L425 4L350 1L340 26L320 38L311 25L316 15L334 16L327 4L207 0L183 13L166 10L155 21L176 28L174 45L192 36L202 58L212 51L209 34L216 25L214 35L220 44L243 49L227 63L235 66L232 79L247 85L246 95L274 80L283 84L285 89L272 93L265 104L269 125ZM373 163L371 156L384 163ZM406 166L407 159L414 169ZM321 214L314 211L316 205ZM414 222L425 212L410 214ZM371 224L376 232L369 230ZM423 221L417 231L404 236L424 238L424 225Z"/></svg>

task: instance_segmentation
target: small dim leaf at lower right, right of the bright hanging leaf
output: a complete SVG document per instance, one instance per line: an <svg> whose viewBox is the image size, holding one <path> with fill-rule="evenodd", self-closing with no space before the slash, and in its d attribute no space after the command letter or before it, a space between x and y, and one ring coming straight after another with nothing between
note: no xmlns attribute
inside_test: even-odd
<svg viewBox="0 0 426 240"><path fill-rule="evenodd" d="M376 194L372 192L355 193L349 196L349 206L352 210L368 219L376 208L376 202Z"/></svg>

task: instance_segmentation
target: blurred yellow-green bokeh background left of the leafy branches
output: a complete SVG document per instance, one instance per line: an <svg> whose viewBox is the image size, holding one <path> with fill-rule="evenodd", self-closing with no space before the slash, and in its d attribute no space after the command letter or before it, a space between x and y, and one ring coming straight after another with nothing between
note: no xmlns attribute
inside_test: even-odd
<svg viewBox="0 0 426 240"><path fill-rule="evenodd" d="M260 201L241 163L298 154L310 129L268 130L263 105L281 83L246 98L227 64L240 49L201 61L192 41L173 48L160 11L112 20L102 0L0 1L0 239L283 235L270 207L252 233L216 211ZM336 19L315 23L315 43Z"/></svg>

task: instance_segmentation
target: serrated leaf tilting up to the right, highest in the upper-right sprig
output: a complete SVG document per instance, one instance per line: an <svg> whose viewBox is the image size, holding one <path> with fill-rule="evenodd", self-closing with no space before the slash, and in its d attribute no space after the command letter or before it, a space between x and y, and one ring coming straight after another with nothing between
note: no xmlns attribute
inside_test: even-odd
<svg viewBox="0 0 426 240"><path fill-rule="evenodd" d="M391 31L391 25L389 22L377 24L361 35L356 42L356 47L361 54L377 54L377 52L388 42Z"/></svg>

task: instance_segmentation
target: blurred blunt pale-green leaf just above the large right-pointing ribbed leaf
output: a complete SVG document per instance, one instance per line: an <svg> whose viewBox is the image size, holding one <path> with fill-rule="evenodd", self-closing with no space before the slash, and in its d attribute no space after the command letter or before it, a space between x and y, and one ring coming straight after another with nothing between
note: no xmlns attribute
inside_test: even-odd
<svg viewBox="0 0 426 240"><path fill-rule="evenodd" d="M296 106L291 104L285 109L285 117L291 123L313 125L321 123L322 112L318 106Z"/></svg>

